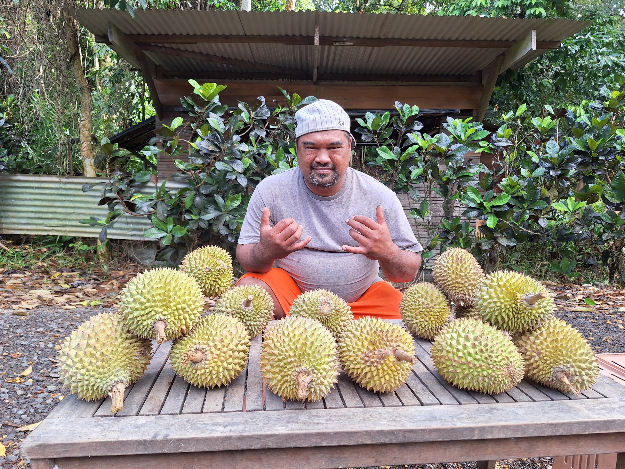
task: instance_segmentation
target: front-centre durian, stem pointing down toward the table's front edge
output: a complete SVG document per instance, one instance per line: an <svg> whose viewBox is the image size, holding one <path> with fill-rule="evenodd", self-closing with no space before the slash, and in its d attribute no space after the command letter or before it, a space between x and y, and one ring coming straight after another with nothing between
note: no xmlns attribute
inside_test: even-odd
<svg viewBox="0 0 625 469"><path fill-rule="evenodd" d="M281 398L319 401L339 375L334 337L321 323L302 316L277 321L263 336L261 373Z"/></svg>

